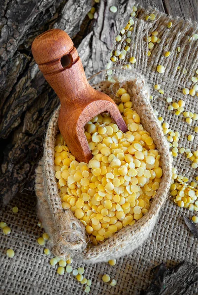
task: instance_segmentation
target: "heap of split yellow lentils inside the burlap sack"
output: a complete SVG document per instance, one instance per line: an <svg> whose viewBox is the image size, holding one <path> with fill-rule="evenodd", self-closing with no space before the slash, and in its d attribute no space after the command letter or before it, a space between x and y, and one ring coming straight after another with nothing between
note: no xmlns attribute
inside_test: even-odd
<svg viewBox="0 0 198 295"><path fill-rule="evenodd" d="M75 160L61 134L55 144L62 207L84 224L94 245L142 218L162 177L160 155L132 110L130 95L123 88L116 95L129 131L120 131L106 114L88 122L85 135L93 154L89 164Z"/></svg>

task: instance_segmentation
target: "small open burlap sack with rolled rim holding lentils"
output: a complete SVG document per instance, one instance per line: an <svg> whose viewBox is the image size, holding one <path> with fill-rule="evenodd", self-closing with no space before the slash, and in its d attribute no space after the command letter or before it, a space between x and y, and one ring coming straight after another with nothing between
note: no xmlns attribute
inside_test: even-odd
<svg viewBox="0 0 198 295"><path fill-rule="evenodd" d="M84 262L94 263L108 261L132 252L149 236L167 198L172 176L172 157L163 130L150 104L149 89L144 78L134 70L130 74L124 70L122 78L119 77L114 76L114 82L100 82L95 88L107 93L116 103L119 103L119 98L113 94L115 89L124 87L130 94L132 108L140 116L140 122L151 134L161 154L163 177L160 187L152 199L148 213L140 220L132 226L122 228L99 245L91 245L84 225L74 217L71 210L62 208L54 168L54 147L60 110L58 108L49 121L44 155L36 169L35 179L38 217L50 236L51 251L58 257L66 258L70 255Z"/></svg>

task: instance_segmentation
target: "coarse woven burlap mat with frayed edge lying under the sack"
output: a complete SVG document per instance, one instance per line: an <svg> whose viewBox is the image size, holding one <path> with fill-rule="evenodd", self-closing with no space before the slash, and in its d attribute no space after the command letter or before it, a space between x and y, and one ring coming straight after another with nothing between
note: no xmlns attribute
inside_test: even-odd
<svg viewBox="0 0 198 295"><path fill-rule="evenodd" d="M184 96L182 89L192 87L192 76L196 75L198 64L197 41L189 42L189 37L196 32L197 25L185 23L183 20L174 20L160 13L156 9L144 10L138 7L137 18L134 18L134 29L130 38L131 49L124 60L116 62L117 65L129 63L134 56L134 67L145 75L151 88L154 109L170 124L170 128L181 134L179 147L196 150L197 139L187 141L187 135L193 132L195 122L188 125L182 115L175 116L167 110L167 97L173 101L183 99L185 109L197 112L197 96ZM145 21L145 16L154 13L155 21ZM127 23L128 20L126 20ZM172 28L167 29L167 23L172 22ZM154 30L159 32L161 43L152 50L147 57L147 42L145 37ZM122 41L116 43L115 49L123 50L126 35ZM181 47L177 52L177 47ZM164 52L171 51L171 58L165 58ZM165 66L165 74L156 72L158 64ZM179 70L177 67L180 66ZM183 74L186 69L186 74ZM153 85L161 85L164 95L153 89ZM179 154L174 159L173 166L177 167L179 174L195 179L197 171L190 166L190 160ZM19 207L18 213L12 213L12 207ZM183 217L190 217L193 212L177 207L172 200L167 200L159 220L151 236L132 254L118 259L115 266L106 263L94 265L79 265L73 262L73 268L84 266L85 276L92 280L92 295L138 295L146 290L151 281L151 269L165 262L168 266L175 265L183 260L197 263L197 240L187 229ZM3 295L52 295L52 294L84 294L84 286L71 274L59 276L56 266L49 264L50 258L43 254L43 248L36 239L42 235L43 230L38 227L36 217L36 200L27 194L19 195L1 211L1 220L11 228L11 234L4 236L0 231L0 294ZM129 244L130 247L130 244ZM13 259L6 257L6 250L15 251ZM117 285L111 287L101 280L101 276L108 273L117 280ZM192 286L186 294L196 294L196 286Z"/></svg>

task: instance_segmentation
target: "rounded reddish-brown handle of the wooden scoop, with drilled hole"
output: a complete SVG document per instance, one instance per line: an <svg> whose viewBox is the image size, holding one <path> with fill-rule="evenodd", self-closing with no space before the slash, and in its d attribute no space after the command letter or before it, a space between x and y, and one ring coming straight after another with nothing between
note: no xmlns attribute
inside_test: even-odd
<svg viewBox="0 0 198 295"><path fill-rule="evenodd" d="M64 30L50 29L33 41L33 57L61 100L62 107L86 103L92 88L71 38Z"/></svg>

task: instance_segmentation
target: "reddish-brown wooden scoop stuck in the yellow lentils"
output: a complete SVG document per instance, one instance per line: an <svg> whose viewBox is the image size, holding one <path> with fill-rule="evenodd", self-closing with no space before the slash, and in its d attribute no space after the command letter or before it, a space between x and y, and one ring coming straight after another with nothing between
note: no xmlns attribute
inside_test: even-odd
<svg viewBox="0 0 198 295"><path fill-rule="evenodd" d="M59 129L71 153L88 163L92 154L84 133L85 124L102 112L110 116L123 132L127 126L113 100L93 89L82 62L67 33L50 29L33 41L32 53L40 71L61 101Z"/></svg>

